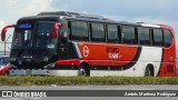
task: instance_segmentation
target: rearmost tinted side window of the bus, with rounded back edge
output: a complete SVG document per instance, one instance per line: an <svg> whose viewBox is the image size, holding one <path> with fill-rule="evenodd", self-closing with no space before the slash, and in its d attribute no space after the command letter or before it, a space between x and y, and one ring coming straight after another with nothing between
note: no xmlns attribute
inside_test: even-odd
<svg viewBox="0 0 178 100"><path fill-rule="evenodd" d="M172 36L169 30L164 30L164 34L165 34L165 47L168 48L171 44Z"/></svg>

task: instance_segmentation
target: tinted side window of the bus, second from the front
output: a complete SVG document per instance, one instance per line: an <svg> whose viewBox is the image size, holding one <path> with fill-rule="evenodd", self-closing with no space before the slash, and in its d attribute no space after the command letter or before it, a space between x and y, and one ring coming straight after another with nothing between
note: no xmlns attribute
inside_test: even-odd
<svg viewBox="0 0 178 100"><path fill-rule="evenodd" d="M105 42L105 29L102 23L91 23L91 41Z"/></svg>

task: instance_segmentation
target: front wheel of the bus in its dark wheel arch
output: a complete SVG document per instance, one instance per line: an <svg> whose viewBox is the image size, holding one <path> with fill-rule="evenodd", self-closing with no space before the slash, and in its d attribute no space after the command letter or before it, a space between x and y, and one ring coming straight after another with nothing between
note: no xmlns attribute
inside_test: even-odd
<svg viewBox="0 0 178 100"><path fill-rule="evenodd" d="M79 66L79 76L90 76L89 74L89 67L87 66L87 63L81 63Z"/></svg>

